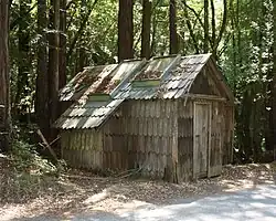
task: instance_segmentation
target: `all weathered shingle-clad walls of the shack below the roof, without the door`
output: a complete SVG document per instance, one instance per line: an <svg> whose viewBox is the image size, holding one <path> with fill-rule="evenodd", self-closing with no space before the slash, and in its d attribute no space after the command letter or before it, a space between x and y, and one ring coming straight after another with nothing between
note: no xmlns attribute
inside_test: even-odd
<svg viewBox="0 0 276 221"><path fill-rule="evenodd" d="M191 180L193 102L128 101L98 130L62 131L62 156L75 168L121 171L140 168L142 176L162 179L171 172L172 155L177 155L178 181ZM222 164L232 162L234 122L232 106L217 101L210 103L212 134L209 157L212 169L209 175L215 176L220 173ZM173 120L176 117L177 123ZM177 149L172 151L176 145Z"/></svg>

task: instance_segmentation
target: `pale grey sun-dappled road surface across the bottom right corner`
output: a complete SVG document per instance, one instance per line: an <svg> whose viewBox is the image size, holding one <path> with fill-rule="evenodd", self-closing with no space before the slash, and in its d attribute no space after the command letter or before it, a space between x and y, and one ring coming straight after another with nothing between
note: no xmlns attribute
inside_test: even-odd
<svg viewBox="0 0 276 221"><path fill-rule="evenodd" d="M25 221L55 221L61 218L44 214ZM231 193L220 193L201 199L178 199L174 203L151 203L125 211L91 211L72 214L73 221L274 221L276 220L276 186L258 186Z"/></svg>

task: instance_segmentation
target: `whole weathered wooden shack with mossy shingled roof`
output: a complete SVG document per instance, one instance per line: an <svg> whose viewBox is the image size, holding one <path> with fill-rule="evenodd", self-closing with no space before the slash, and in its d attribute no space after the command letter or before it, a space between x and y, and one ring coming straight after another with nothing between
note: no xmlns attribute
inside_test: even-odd
<svg viewBox="0 0 276 221"><path fill-rule="evenodd" d="M55 123L72 167L181 182L232 162L234 97L211 54L86 67L60 98L73 103Z"/></svg>

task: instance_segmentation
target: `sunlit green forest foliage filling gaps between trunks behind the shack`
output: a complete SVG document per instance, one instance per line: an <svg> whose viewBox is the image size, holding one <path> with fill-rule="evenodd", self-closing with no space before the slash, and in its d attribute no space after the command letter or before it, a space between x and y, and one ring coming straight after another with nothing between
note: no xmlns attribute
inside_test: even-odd
<svg viewBox="0 0 276 221"><path fill-rule="evenodd" d="M41 36L36 33L36 1L30 2L31 4L25 4L25 10L30 10L30 13L22 18L20 17L20 2L13 1L11 6L10 67L12 107L23 109L22 107L26 106L28 112L33 112L38 40ZM67 80L81 71L81 63L88 66L118 61L118 1L95 2L95 6L94 1L67 2L67 31L65 33L67 36ZM210 38L212 38L213 31L216 36L219 35L223 19L223 1L213 0L213 2L215 30L212 30L212 11L209 7ZM202 0L177 0L177 27L180 53L182 54L203 52L203 6L204 1ZM141 48L141 1L135 1L134 51L137 57L140 55ZM87 21L83 23L86 17ZM29 32L31 39L29 42L28 85L22 85L19 81L19 63L22 59L19 50L19 24L22 22L28 24L25 31ZM188 28L189 22L190 29ZM212 43L209 42L210 52L214 50L217 62L222 66L238 103L235 115L235 147L247 156L247 160L257 160L254 152L263 152L269 146L270 128L268 125L272 109L270 87L274 62L272 59L273 25L273 0L227 1L226 29L219 42L217 50L214 50ZM53 30L45 30L45 32L51 31ZM150 39L152 55L169 53L169 0L152 0ZM75 44L73 44L74 41ZM20 90L20 87L24 87L24 90ZM24 144L17 145L24 147Z"/></svg>

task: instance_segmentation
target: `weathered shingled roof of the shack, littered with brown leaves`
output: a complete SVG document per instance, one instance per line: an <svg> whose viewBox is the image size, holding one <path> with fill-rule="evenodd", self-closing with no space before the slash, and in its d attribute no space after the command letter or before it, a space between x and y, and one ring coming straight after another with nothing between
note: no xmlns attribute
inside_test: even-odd
<svg viewBox="0 0 276 221"><path fill-rule="evenodd" d="M61 91L61 101L75 103L54 126L61 129L96 128L126 99L183 97L209 61L213 62L211 54L171 55L87 67ZM223 82L223 75L220 74L217 80ZM232 99L226 84L224 87Z"/></svg>

